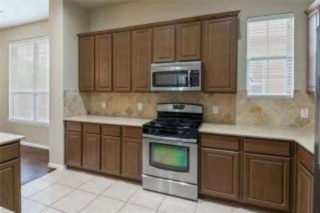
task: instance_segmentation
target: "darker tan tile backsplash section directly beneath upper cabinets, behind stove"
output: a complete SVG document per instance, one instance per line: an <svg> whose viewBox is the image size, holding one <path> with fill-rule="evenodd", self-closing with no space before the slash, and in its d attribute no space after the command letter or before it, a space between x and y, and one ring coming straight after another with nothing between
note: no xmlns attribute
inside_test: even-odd
<svg viewBox="0 0 320 213"><path fill-rule="evenodd" d="M203 104L203 116L206 122L235 123L235 94L202 92L82 92L81 97L88 114L152 118L156 116L157 103L186 102ZM105 108L102 108L102 102L105 102ZM137 103L142 103L142 110L137 109ZM219 113L212 113L212 104L219 105Z"/></svg>

